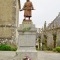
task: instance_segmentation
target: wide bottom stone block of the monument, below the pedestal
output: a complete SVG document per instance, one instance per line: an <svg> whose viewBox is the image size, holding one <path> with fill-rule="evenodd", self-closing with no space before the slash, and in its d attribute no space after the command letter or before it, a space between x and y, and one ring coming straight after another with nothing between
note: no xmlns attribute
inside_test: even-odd
<svg viewBox="0 0 60 60"><path fill-rule="evenodd" d="M37 51L35 50L17 50L17 60L37 60Z"/></svg>

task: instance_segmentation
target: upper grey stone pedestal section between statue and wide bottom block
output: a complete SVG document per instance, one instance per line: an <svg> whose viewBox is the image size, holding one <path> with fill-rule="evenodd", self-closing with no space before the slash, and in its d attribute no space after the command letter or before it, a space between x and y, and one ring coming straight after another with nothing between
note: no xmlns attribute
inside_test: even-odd
<svg viewBox="0 0 60 60"><path fill-rule="evenodd" d="M32 21L23 21L18 28L18 46L23 49L35 48L36 45L36 28Z"/></svg>

